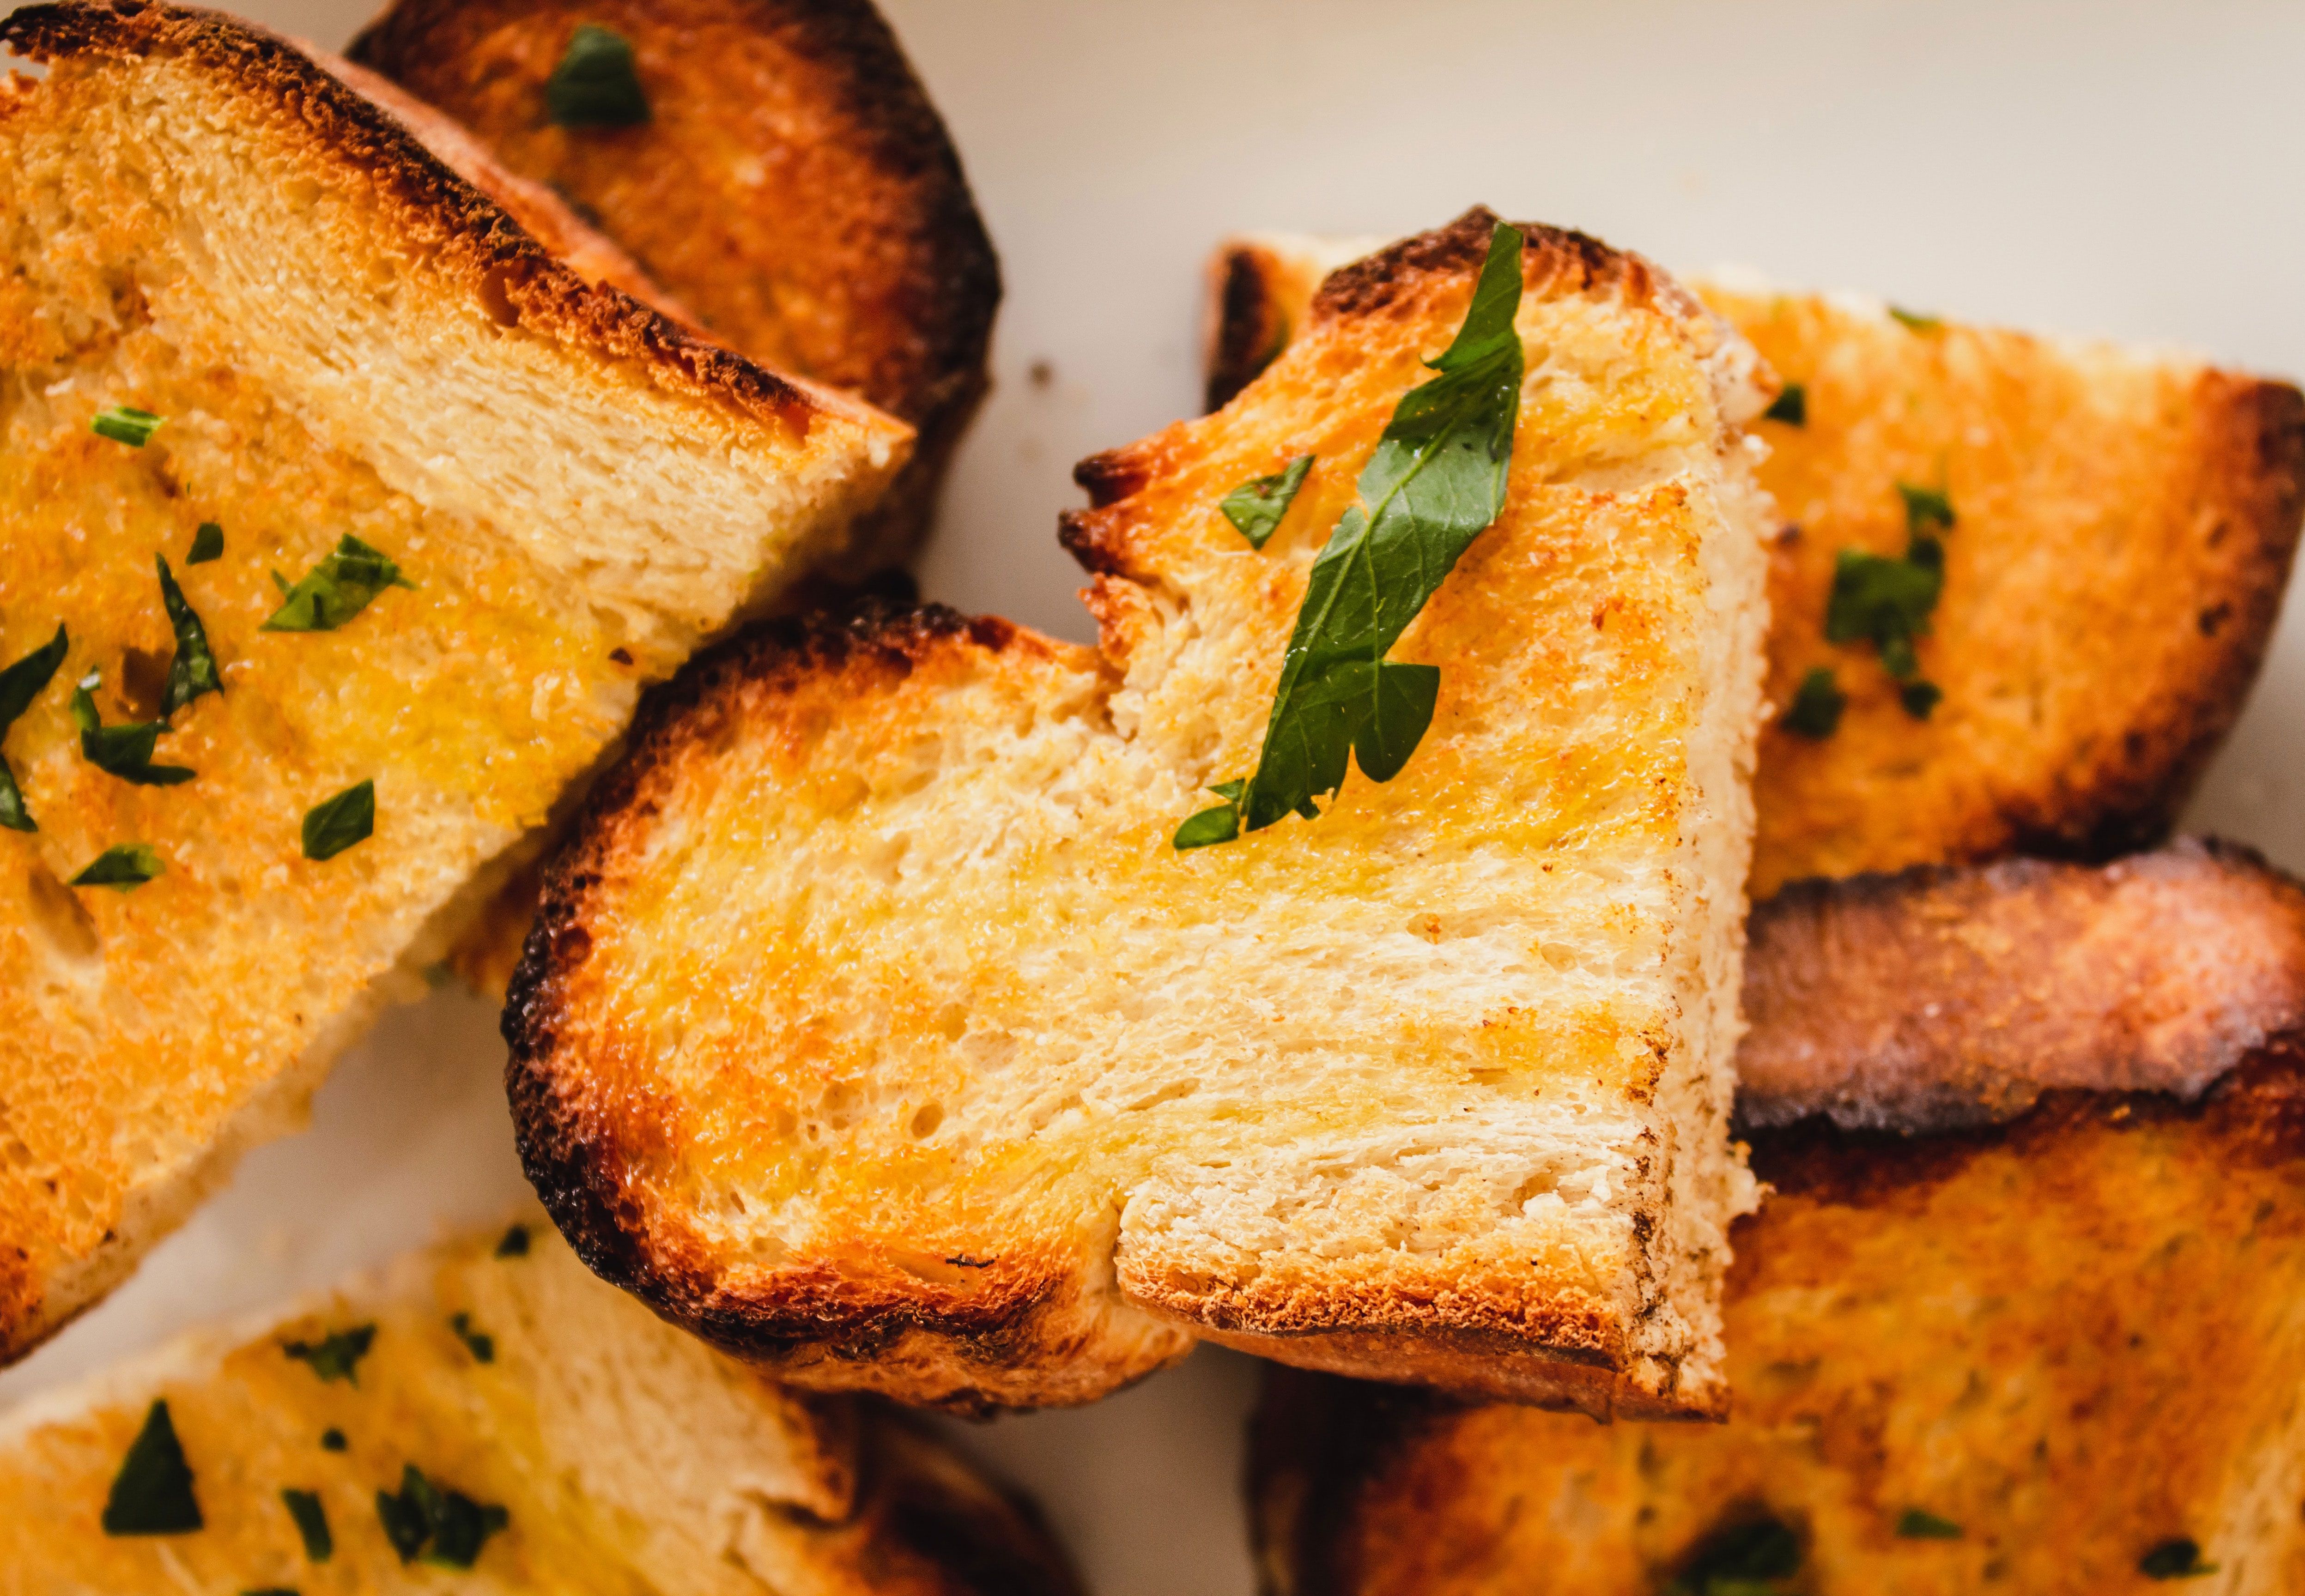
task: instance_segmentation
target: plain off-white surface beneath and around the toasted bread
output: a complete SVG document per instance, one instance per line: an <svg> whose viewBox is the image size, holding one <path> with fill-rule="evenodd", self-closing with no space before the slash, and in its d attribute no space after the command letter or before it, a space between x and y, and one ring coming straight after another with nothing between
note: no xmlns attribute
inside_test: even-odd
<svg viewBox="0 0 2305 1596"><path fill-rule="evenodd" d="M5 5L5 0L0 0ZM364 0L263 0L327 46ZM1235 228L1404 233L1473 200L1667 265L2305 373L2305 7L1803 0L883 0L1007 269L998 392L927 596L1088 638L1053 539L1072 461L1194 408L1201 263ZM1049 362L1053 380L1026 371ZM2104 617L2118 626L2121 617ZM2305 868L2305 622L2192 822ZM166 1331L498 1216L519 1193L496 1016L392 1016L311 1133L233 1188L0 1405ZM1247 1359L966 1442L1102 1596L1242 1596Z"/></svg>

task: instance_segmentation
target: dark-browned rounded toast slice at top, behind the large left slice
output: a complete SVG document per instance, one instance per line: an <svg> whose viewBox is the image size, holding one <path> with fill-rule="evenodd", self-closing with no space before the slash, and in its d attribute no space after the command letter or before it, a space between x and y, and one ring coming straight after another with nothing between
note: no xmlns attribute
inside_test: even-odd
<svg viewBox="0 0 2305 1596"><path fill-rule="evenodd" d="M645 124L551 120L581 23L629 41ZM987 389L1000 265L871 0L394 0L353 58L567 196L731 348L917 426L837 573L913 550Z"/></svg>

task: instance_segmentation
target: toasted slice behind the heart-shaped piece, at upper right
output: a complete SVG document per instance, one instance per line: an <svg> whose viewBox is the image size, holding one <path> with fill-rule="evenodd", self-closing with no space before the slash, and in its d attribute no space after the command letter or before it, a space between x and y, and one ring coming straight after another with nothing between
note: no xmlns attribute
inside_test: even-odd
<svg viewBox="0 0 2305 1596"><path fill-rule="evenodd" d="M1245 237L1210 283L1210 403L1261 368L1358 240ZM2102 859L2176 820L2247 696L2305 514L2305 398L2109 343L1899 318L1851 295L1696 292L1777 375L1761 486L1791 523L1770 571L1752 891L2003 852ZM1906 550L1897 486L1941 491L1943 596L1918 645L1925 721L1869 643L1835 647L1844 548ZM1846 696L1789 730L1803 679Z"/></svg>

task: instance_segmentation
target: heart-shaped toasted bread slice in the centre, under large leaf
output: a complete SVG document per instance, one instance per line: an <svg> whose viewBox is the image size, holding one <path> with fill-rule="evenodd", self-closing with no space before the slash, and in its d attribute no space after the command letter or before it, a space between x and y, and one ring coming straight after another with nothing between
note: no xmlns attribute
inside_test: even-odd
<svg viewBox="0 0 2305 1596"><path fill-rule="evenodd" d="M1081 468L1099 649L943 610L768 629L643 712L507 1039L609 1278L802 1384L1086 1400L1208 1336L1722 1403L1761 537L1747 350L1537 228L1503 516L1401 640L1388 785L1171 834L1261 742L1307 573L1494 216L1323 290L1222 415ZM1254 550L1217 514L1312 451Z"/></svg>

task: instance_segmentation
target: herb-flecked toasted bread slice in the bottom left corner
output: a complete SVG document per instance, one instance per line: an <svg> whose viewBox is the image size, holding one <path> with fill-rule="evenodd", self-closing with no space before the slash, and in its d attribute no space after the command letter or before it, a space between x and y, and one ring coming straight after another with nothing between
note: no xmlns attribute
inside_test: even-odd
<svg viewBox="0 0 2305 1596"><path fill-rule="evenodd" d="M198 1529L108 1534L154 1403L191 1474L166 1497L173 1522ZM459 1492L482 1532L396 1545L396 1502L378 1497L401 1499L406 1469L443 1502ZM311 1502L293 1508L284 1492ZM141 1506L152 1525L159 1502ZM853 1398L795 1396L655 1320L585 1274L539 1216L403 1257L286 1317L182 1338L0 1421L0 1594L249 1589L1076 1584L1030 1511L938 1442Z"/></svg>

